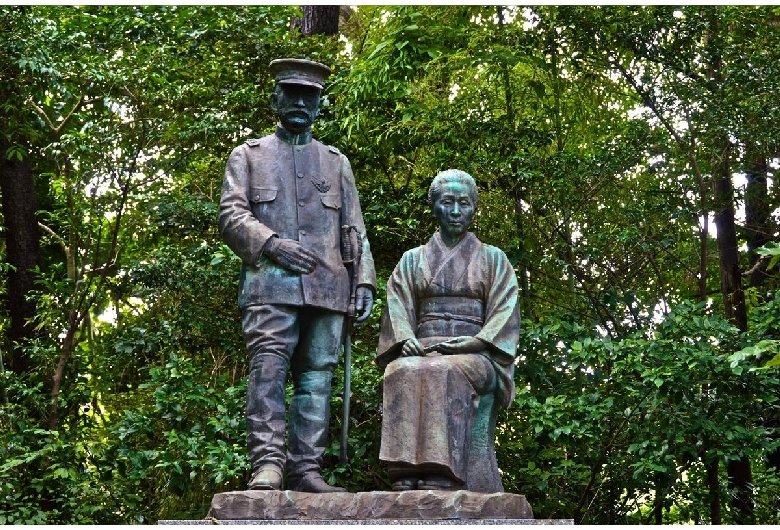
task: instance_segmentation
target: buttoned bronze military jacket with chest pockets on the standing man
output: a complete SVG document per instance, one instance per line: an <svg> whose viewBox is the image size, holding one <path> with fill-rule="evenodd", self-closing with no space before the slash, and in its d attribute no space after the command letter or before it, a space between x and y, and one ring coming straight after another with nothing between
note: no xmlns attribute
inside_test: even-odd
<svg viewBox="0 0 780 530"><path fill-rule="evenodd" d="M239 308L281 304L346 312L350 277L341 256L342 226L363 235L357 284L376 287L352 168L335 148L316 140L293 145L286 136L277 127L276 134L248 140L233 150L225 168L219 229L243 261ZM273 236L311 251L315 270L298 274L263 255Z"/></svg>

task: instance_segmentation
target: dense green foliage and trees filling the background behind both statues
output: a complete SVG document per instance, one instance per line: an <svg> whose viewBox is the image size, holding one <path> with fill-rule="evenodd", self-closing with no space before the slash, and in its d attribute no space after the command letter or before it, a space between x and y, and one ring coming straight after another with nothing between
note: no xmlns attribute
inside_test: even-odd
<svg viewBox="0 0 780 530"><path fill-rule="evenodd" d="M334 413L326 479L388 486L384 282L457 167L521 285L506 490L577 523L780 523L780 9L359 6L336 36L300 16L0 7L0 524L199 519L244 487L239 261L216 215L230 149L274 126L279 57L333 67L315 135L352 163L379 276L350 461ZM40 244L24 329L20 234Z"/></svg>

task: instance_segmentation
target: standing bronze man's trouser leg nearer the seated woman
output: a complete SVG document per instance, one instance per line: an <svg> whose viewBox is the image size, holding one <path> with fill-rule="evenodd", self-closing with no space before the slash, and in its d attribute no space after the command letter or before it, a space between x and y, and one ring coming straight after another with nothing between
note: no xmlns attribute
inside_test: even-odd
<svg viewBox="0 0 780 530"><path fill-rule="evenodd" d="M330 387L341 350L344 315L300 310L300 341L291 370L295 391L290 402L287 477L296 489L320 477L330 420Z"/></svg>

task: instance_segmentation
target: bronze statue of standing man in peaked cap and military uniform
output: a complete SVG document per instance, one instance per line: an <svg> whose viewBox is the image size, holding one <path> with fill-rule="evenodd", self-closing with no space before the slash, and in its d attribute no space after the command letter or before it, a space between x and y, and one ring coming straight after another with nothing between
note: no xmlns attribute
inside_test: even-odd
<svg viewBox="0 0 780 530"><path fill-rule="evenodd" d="M345 491L321 476L351 289L357 321L374 303L376 273L347 158L312 139L330 69L302 59L271 62L271 108L279 122L230 154L219 229L241 258L238 305L250 358L247 386L249 489ZM346 227L346 228L345 228ZM355 284L342 233L361 234ZM285 423L288 372L294 392ZM287 449L285 452L285 429Z"/></svg>

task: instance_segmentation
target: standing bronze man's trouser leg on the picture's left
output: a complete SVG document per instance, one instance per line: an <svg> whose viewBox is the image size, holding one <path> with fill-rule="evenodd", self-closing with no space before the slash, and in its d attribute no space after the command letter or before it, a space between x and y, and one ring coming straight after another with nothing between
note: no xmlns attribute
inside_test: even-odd
<svg viewBox="0 0 780 530"><path fill-rule="evenodd" d="M254 474L285 465L285 383L292 352L298 343L297 310L250 306L242 311L249 352L246 398L246 442Z"/></svg>

